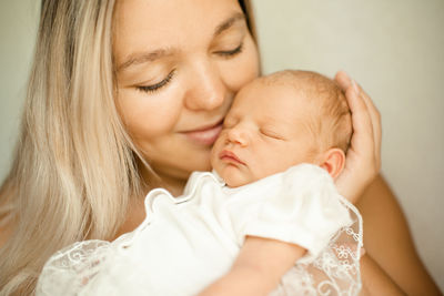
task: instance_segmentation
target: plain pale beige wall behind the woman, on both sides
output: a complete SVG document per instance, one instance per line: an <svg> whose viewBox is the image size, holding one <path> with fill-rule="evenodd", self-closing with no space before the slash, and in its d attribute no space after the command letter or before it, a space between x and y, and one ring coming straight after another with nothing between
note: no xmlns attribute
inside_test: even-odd
<svg viewBox="0 0 444 296"><path fill-rule="evenodd" d="M0 178L17 135L39 2L0 2ZM383 116L383 174L444 289L444 1L254 3L266 73L343 69L374 99Z"/></svg>

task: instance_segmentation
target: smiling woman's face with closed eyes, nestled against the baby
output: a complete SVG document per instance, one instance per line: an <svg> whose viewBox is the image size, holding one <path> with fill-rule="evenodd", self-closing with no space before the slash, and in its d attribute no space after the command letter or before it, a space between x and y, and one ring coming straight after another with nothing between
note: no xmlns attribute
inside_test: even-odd
<svg viewBox="0 0 444 296"><path fill-rule="evenodd" d="M151 167L209 170L234 94L259 74L238 0L118 1L113 54L119 112Z"/></svg>

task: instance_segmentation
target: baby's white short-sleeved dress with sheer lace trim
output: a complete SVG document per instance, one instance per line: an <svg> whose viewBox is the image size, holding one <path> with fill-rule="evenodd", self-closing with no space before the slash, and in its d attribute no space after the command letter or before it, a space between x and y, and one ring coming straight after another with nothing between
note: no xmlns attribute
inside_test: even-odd
<svg viewBox="0 0 444 296"><path fill-rule="evenodd" d="M307 249L272 295L361 288L361 216L317 166L293 166L238 188L194 173L183 196L151 191L145 211L143 223L114 242L84 241L56 253L37 295L196 295L230 269L246 235Z"/></svg>

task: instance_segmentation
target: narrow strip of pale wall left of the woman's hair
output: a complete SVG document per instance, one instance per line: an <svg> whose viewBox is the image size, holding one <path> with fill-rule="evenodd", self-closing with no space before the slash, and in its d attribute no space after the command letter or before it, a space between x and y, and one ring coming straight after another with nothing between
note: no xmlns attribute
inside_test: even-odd
<svg viewBox="0 0 444 296"><path fill-rule="evenodd" d="M39 22L36 0L0 0L0 180L7 174L20 125Z"/></svg>

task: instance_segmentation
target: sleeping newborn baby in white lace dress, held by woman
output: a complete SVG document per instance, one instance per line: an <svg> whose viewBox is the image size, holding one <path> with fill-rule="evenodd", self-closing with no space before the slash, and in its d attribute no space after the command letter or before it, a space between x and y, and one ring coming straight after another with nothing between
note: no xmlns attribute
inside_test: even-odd
<svg viewBox="0 0 444 296"><path fill-rule="evenodd" d="M144 222L117 241L54 254L37 295L355 295L360 215L333 183L351 133L331 80L256 79L225 118L213 173L193 173L180 197L151 191Z"/></svg>

